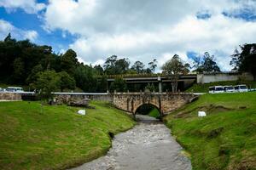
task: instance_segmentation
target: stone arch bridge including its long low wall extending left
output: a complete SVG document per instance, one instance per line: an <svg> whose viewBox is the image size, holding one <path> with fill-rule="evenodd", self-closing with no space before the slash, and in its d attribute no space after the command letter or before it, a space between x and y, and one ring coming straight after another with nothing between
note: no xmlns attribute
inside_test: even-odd
<svg viewBox="0 0 256 170"><path fill-rule="evenodd" d="M154 105L162 116L175 111L181 106L197 98L197 95L190 93L53 93L57 98L67 102L69 99L94 99L112 103L115 107L123 111L128 111L136 115L137 109L141 105Z"/></svg>

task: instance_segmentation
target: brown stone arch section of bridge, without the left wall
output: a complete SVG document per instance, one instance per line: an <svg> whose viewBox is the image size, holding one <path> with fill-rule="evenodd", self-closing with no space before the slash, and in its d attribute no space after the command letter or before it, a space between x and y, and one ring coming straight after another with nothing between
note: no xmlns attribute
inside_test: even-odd
<svg viewBox="0 0 256 170"><path fill-rule="evenodd" d="M121 110L131 112L134 116L140 106L154 105L161 116L165 116L196 98L194 94L184 93L117 93L113 94L112 104Z"/></svg>

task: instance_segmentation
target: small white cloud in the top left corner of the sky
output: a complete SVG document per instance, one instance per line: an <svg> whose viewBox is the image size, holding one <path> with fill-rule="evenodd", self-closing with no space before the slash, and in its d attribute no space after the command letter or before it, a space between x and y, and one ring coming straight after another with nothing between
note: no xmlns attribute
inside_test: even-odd
<svg viewBox="0 0 256 170"><path fill-rule="evenodd" d="M36 0L0 0L0 7L6 8L9 12L22 8L28 14L36 14L45 8L45 4L37 3Z"/></svg>

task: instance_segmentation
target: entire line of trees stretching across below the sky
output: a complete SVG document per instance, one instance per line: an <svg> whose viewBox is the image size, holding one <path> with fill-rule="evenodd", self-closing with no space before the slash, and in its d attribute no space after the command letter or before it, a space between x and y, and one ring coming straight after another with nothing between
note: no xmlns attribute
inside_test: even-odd
<svg viewBox="0 0 256 170"><path fill-rule="evenodd" d="M255 49L255 43L241 46L241 52L236 49L231 55L230 65L234 66L233 70L251 72L255 78ZM220 71L214 56L207 52L203 57L194 57L193 60L193 65L189 65L175 54L161 66L162 73L172 79L173 91L177 90L179 74ZM157 63L153 59L144 65L138 60L131 65L128 58L120 59L112 55L105 60L104 65L84 65L78 61L73 49L68 49L65 54L55 54L50 46L40 46L29 40L17 41L10 34L0 41L0 81L38 89L44 96L49 95L50 91L75 88L84 92L106 92L108 75L154 74ZM147 87L154 89L150 84ZM109 88L112 91L125 91L127 86L119 78Z"/></svg>

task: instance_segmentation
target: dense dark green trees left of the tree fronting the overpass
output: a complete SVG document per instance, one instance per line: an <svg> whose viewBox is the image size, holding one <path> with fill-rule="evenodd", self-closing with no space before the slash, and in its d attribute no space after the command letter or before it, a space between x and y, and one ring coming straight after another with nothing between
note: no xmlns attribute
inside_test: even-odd
<svg viewBox="0 0 256 170"><path fill-rule="evenodd" d="M76 88L84 92L106 92L107 75L154 73L157 66L156 59L148 63L148 68L144 68L142 62L142 68L137 68L137 63L130 67L129 59L113 55L106 59L103 67L92 67L80 63L72 49L65 54L55 54L49 46L39 46L29 40L16 41L10 34L0 41L0 81L37 89L42 97L49 97L51 91ZM112 91L113 88L126 90L119 82L124 81L110 84Z"/></svg>

